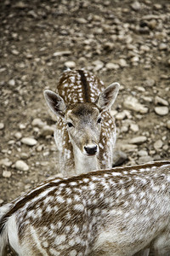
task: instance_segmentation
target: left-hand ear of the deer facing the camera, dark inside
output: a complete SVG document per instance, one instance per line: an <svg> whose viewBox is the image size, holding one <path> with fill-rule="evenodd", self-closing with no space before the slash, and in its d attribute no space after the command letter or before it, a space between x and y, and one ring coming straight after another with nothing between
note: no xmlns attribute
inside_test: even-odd
<svg viewBox="0 0 170 256"><path fill-rule="evenodd" d="M54 114L59 115L61 118L64 118L66 107L63 98L52 90L44 90L43 95L51 111Z"/></svg>

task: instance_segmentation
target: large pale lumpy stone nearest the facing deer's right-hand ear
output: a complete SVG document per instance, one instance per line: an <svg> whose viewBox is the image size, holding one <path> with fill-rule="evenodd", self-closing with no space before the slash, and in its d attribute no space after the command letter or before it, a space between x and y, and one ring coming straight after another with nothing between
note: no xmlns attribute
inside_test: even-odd
<svg viewBox="0 0 170 256"><path fill-rule="evenodd" d="M148 113L148 108L140 104L138 100L133 96L127 96L127 98L124 101L124 107L129 108L135 112Z"/></svg>

